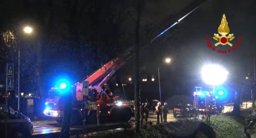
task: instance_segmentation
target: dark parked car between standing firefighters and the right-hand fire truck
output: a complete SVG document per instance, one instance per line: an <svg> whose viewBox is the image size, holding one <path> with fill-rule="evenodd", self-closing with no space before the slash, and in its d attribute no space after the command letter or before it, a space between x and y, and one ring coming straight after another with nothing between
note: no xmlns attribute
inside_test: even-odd
<svg viewBox="0 0 256 138"><path fill-rule="evenodd" d="M182 116L185 116L185 117L191 117L193 115L197 116L197 111L190 104L187 104L187 105L178 104L173 109L173 116L176 117L177 115L182 115Z"/></svg>

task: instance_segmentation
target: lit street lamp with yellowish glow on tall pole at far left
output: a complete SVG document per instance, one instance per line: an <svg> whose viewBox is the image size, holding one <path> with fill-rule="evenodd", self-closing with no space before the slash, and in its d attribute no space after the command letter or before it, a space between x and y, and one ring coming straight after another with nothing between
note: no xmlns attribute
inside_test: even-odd
<svg viewBox="0 0 256 138"><path fill-rule="evenodd" d="M33 29L26 26L23 29L25 34L31 34ZM18 111L20 110L20 46L18 45Z"/></svg>

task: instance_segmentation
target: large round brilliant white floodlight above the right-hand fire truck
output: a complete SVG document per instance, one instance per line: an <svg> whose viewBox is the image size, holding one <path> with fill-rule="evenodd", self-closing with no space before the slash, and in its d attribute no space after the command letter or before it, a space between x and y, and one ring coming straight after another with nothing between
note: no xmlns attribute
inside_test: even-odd
<svg viewBox="0 0 256 138"><path fill-rule="evenodd" d="M224 83L228 74L229 72L220 65L206 65L201 71L204 82L213 86Z"/></svg>

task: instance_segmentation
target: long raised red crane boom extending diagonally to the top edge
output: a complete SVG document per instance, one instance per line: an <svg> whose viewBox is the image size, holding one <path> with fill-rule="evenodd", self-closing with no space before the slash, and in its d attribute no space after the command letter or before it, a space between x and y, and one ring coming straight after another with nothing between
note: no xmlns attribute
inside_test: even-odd
<svg viewBox="0 0 256 138"><path fill-rule="evenodd" d="M206 0L195 0L192 3L190 3L188 6L186 6L184 9L180 10L176 16L172 16L171 18L174 19L174 23L170 25L167 29L164 29L160 34L158 34L156 37L153 37L153 39L149 40L145 43L145 45L142 48L145 48L149 42L153 42L155 39L160 37L162 34L164 34L167 30L178 24L182 19L187 17L189 14L194 12L196 9L199 8L202 3L204 3ZM180 18L181 17L181 18ZM166 21L166 20L165 20ZM164 21L162 26L166 27L166 22ZM163 28L161 28L162 30ZM156 32L159 32L156 31ZM85 81L89 81L89 88L96 89L97 93L100 93L101 87L104 85L105 82L107 82L110 77L115 73L116 70L121 68L127 59L132 57L134 55L134 49L130 48L128 49L122 56L112 59L111 61L107 62L105 65L100 67L97 71L92 73L90 76L88 76ZM82 98L82 83L77 84L76 92L80 92L79 97ZM78 98L78 94L77 94Z"/></svg>

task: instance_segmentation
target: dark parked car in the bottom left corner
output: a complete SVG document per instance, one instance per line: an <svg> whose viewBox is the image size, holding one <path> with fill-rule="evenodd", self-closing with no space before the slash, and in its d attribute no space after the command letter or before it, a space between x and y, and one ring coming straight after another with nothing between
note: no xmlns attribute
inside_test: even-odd
<svg viewBox="0 0 256 138"><path fill-rule="evenodd" d="M10 106L6 109L5 104L0 104L0 135L3 137L5 136L6 122L8 137L30 136L33 133L33 124L27 116L15 111Z"/></svg>

